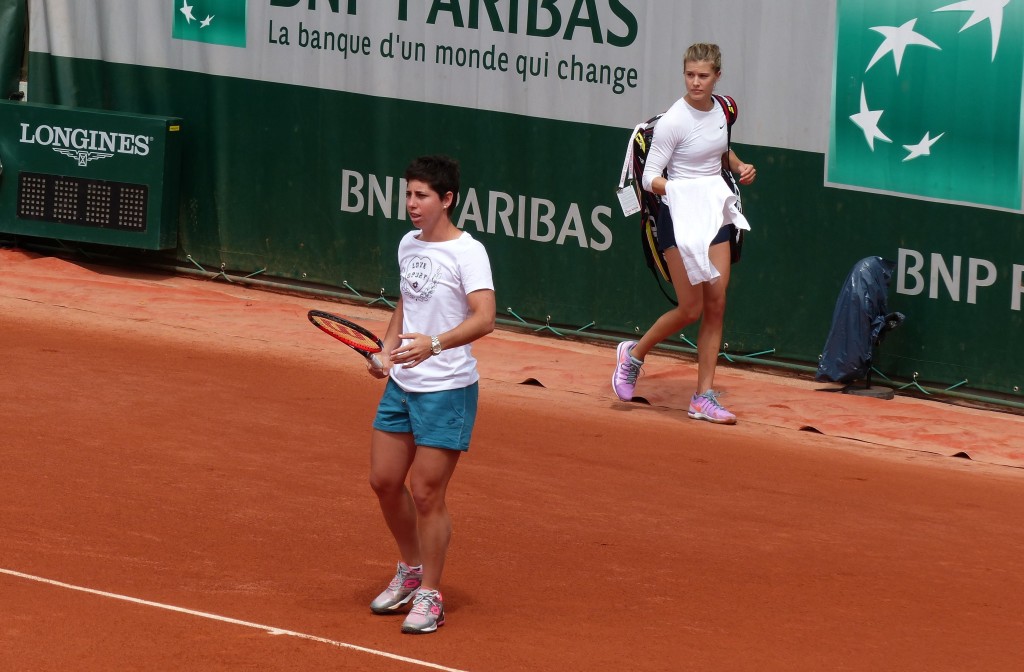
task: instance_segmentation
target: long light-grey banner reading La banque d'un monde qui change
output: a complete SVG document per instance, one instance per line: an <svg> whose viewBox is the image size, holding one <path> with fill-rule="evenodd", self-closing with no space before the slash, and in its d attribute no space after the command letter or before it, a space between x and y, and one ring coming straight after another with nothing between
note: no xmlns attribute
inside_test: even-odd
<svg viewBox="0 0 1024 672"><path fill-rule="evenodd" d="M828 71L806 64L831 50L830 31L820 30L833 23L828 2L30 0L30 7L32 50L54 56L616 128L664 112L684 93L686 46L716 42L724 54L720 89L742 106L733 139L819 153L826 141ZM791 37L755 44L744 22ZM800 78L779 82L778 68L790 66ZM769 78L770 87L752 85ZM810 99L800 109L811 123L798 126L791 108L801 98Z"/></svg>

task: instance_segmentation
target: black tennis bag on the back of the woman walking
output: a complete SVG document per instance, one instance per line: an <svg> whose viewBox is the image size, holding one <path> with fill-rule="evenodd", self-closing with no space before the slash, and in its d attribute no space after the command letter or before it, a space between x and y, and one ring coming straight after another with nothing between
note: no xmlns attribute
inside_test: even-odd
<svg viewBox="0 0 1024 672"><path fill-rule="evenodd" d="M727 95L715 95L715 99L725 111L725 118L728 122L728 144L732 144L732 125L736 123L738 110L736 101ZM665 261L665 255L657 249L657 213L662 207L662 197L643 188L643 169L647 163L647 153L650 151L650 143L654 137L654 127L665 113L651 117L647 121L637 124L633 129L633 135L627 149L626 164L628 167L626 178L622 186L626 186L632 180L633 191L636 193L637 202L640 204L640 244L643 249L644 261L650 268L654 279L657 281L658 289L673 305L677 305L675 299L669 295L665 289L665 284L672 284L672 276L669 274L669 265ZM728 150L726 152L728 154ZM722 159L722 178L729 185L732 193L736 195L736 206L742 211L742 204L739 202L739 183L736 177L729 170L725 157ZM742 232L739 232L739 240L731 241L732 262L739 261L739 252L742 248Z"/></svg>

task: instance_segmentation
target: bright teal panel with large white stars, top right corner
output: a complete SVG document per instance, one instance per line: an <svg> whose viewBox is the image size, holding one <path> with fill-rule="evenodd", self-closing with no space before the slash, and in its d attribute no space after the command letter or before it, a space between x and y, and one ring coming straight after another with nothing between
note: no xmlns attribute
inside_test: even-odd
<svg viewBox="0 0 1024 672"><path fill-rule="evenodd" d="M827 182L1020 212L1024 2L839 0Z"/></svg>

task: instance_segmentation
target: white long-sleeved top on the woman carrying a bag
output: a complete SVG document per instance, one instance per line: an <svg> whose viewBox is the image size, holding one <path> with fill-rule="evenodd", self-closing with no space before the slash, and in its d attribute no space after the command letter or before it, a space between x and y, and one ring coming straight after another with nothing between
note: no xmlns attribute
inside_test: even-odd
<svg viewBox="0 0 1024 672"><path fill-rule="evenodd" d="M722 172L722 155L729 148L725 111L715 107L700 112L679 98L654 126L647 163L643 169L643 187L668 169L669 179L710 177ZM668 199L666 199L668 202Z"/></svg>

